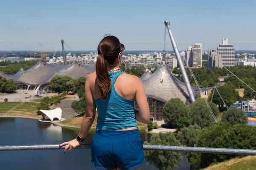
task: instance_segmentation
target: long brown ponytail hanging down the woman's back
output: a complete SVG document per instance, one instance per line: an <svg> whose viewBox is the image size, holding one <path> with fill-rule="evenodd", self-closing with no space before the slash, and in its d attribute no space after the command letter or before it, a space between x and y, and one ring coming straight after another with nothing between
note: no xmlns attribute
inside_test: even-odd
<svg viewBox="0 0 256 170"><path fill-rule="evenodd" d="M96 75L102 95L101 99L105 100L108 98L108 93L111 90L111 80L108 74L108 62L104 59L102 53L99 54L96 61Z"/></svg>

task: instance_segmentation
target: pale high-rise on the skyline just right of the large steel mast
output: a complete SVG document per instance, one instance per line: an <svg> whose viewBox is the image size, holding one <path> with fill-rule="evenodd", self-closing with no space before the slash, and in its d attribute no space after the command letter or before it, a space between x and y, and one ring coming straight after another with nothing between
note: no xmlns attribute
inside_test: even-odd
<svg viewBox="0 0 256 170"><path fill-rule="evenodd" d="M185 57L190 67L202 67L202 46L202 43L195 43L195 45L189 46L189 48L186 49Z"/></svg>

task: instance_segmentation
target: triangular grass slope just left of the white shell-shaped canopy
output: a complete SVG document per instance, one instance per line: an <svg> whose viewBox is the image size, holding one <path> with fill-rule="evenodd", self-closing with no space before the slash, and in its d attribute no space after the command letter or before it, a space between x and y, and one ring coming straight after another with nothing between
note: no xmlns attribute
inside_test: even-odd
<svg viewBox="0 0 256 170"><path fill-rule="evenodd" d="M10 111L8 115L42 118L41 115L37 114L37 105L39 105L39 103L24 102L22 105L18 106L13 111Z"/></svg>

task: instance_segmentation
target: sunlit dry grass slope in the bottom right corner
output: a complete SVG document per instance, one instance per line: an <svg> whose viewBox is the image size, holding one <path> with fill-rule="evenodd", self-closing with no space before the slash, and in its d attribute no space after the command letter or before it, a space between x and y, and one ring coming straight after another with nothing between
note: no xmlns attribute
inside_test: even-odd
<svg viewBox="0 0 256 170"><path fill-rule="evenodd" d="M256 170L256 156L230 159L207 167L204 170Z"/></svg>

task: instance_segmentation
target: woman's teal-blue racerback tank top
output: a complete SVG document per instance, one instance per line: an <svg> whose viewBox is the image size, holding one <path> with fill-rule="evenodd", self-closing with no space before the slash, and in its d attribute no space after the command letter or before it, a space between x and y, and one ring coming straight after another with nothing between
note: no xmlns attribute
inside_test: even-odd
<svg viewBox="0 0 256 170"><path fill-rule="evenodd" d="M111 91L105 100L95 99L98 111L97 130L121 130L129 127L138 127L134 114L134 100L125 99L115 90L115 82L123 71L110 74Z"/></svg>

